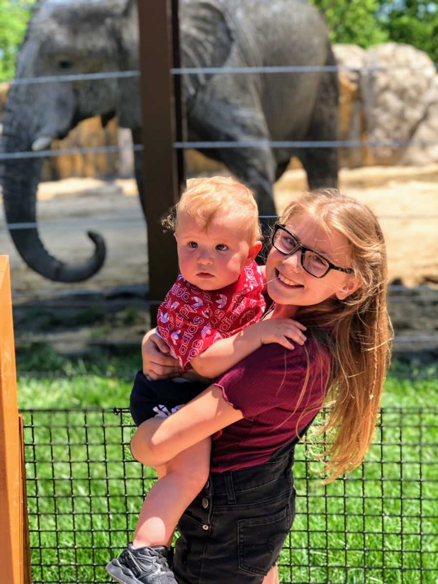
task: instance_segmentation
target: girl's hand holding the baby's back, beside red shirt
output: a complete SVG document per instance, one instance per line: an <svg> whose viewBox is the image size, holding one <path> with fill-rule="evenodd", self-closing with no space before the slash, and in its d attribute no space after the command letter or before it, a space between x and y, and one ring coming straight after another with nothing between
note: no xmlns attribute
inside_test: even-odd
<svg viewBox="0 0 438 584"><path fill-rule="evenodd" d="M143 373L154 380L175 377L182 371L178 359L169 355L169 347L154 331L146 333L141 342Z"/></svg>

